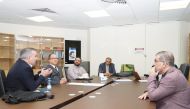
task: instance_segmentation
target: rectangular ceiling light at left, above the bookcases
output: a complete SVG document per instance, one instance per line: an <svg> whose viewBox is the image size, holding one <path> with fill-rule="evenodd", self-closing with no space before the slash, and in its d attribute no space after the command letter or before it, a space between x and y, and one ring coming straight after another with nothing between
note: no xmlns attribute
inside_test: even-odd
<svg viewBox="0 0 190 109"><path fill-rule="evenodd" d="M46 16L34 16L34 17L27 17L27 19L35 21L35 22L49 22L53 21L52 19L46 17Z"/></svg>

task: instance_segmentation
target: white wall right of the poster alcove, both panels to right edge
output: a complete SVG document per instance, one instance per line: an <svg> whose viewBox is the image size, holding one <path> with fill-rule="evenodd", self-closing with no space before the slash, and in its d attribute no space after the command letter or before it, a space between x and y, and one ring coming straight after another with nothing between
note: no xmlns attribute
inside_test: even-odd
<svg viewBox="0 0 190 109"><path fill-rule="evenodd" d="M178 65L186 62L186 26L185 23L171 21L90 29L92 75L98 73L99 64L107 56L113 59L117 72L120 71L121 64L131 63L141 75L148 72L155 53L161 50L173 52ZM145 50L136 53L135 48Z"/></svg>

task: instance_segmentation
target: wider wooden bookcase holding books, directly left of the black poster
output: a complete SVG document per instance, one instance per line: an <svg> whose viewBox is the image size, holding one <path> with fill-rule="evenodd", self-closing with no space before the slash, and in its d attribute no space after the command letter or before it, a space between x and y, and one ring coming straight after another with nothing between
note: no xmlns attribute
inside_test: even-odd
<svg viewBox="0 0 190 109"><path fill-rule="evenodd" d="M34 67L34 72L39 71L41 67L48 64L48 56L50 53L57 55L59 59L58 66L64 66L64 38L16 36L16 58L19 57L20 50L27 47L35 48L38 52L38 60Z"/></svg>

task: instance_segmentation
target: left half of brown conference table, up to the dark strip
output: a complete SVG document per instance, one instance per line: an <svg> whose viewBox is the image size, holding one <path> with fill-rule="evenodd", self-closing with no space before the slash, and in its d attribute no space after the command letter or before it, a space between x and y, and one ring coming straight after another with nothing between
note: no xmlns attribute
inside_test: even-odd
<svg viewBox="0 0 190 109"><path fill-rule="evenodd" d="M100 83L99 78L93 80L77 80L72 83ZM109 79L105 81L104 85L111 83ZM103 85L103 86L104 86ZM103 87L101 86L101 87ZM54 99L47 99L43 101L27 102L20 104L7 104L0 100L0 109L49 109L59 108L72 101L81 98L85 94L100 88L99 86L82 86L82 85L55 85L52 87L52 94L55 95Z"/></svg>

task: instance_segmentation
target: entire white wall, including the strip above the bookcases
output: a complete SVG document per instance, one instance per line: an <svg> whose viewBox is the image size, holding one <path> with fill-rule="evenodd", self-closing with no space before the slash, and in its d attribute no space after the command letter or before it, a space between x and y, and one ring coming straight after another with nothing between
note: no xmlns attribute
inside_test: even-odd
<svg viewBox="0 0 190 109"><path fill-rule="evenodd" d="M92 75L97 75L99 64L104 62L107 56L113 59L117 72L120 71L121 64L131 63L142 75L147 73L153 64L155 53L160 50L172 51L178 66L187 62L190 23L176 21L109 26L89 30L0 23L0 32L81 40L82 59L90 60ZM135 52L135 48L145 48L145 50L138 53Z"/></svg>

